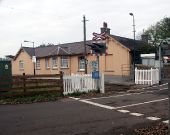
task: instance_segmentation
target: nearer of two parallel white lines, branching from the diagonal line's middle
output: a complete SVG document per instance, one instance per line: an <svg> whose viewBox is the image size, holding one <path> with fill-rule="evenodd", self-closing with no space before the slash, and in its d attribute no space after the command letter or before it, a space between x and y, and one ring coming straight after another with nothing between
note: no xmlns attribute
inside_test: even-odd
<svg viewBox="0 0 170 135"><path fill-rule="evenodd" d="M161 102L161 101L168 100L168 99L169 99L169 98L151 100L151 101L147 101L147 102L143 102L143 103L136 103L136 104L130 104L130 105L125 105L125 106L114 107L114 109L120 109L120 108L138 106L138 105L149 104L149 103L154 103L154 102Z"/></svg>

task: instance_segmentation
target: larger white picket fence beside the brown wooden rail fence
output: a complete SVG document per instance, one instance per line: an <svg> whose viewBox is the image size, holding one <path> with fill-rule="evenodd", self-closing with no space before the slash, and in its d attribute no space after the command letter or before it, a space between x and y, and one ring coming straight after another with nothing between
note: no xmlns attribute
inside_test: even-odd
<svg viewBox="0 0 170 135"><path fill-rule="evenodd" d="M74 92L89 92L97 90L97 80L92 79L91 74L72 74L63 76L64 95ZM100 92L104 93L104 74L100 74L99 80Z"/></svg>

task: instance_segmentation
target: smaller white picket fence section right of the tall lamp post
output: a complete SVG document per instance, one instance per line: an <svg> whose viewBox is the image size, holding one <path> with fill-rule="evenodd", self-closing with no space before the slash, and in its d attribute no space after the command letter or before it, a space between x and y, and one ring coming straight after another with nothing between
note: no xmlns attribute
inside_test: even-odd
<svg viewBox="0 0 170 135"><path fill-rule="evenodd" d="M159 83L159 69L135 69L135 84L153 85Z"/></svg>

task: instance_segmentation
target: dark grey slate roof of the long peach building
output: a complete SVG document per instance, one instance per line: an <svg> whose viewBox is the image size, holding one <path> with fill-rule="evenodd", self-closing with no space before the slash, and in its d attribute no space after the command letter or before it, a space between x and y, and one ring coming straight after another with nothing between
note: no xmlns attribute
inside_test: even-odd
<svg viewBox="0 0 170 135"><path fill-rule="evenodd" d="M120 42L122 45L126 46L130 50L133 50L134 40L110 35L112 38ZM92 44L92 40L87 41L87 44ZM143 44L142 41L136 40L135 45L139 46ZM22 47L30 56L34 55L34 48L30 47ZM40 57L48 57L55 55L81 55L84 53L84 42L73 42L73 43L65 43L59 45L49 45L49 46L40 46L35 48L35 55L37 58ZM87 53L90 53L90 47L87 46Z"/></svg>

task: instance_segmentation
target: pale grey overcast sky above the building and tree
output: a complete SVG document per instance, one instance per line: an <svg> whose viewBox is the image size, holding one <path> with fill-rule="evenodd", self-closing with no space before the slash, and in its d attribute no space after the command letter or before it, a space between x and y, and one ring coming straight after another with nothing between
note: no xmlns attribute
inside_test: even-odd
<svg viewBox="0 0 170 135"><path fill-rule="evenodd" d="M15 55L24 40L68 43L83 40L83 15L87 39L108 23L114 35L133 38L132 16L140 33L163 17L170 17L170 0L0 0L0 57Z"/></svg>

